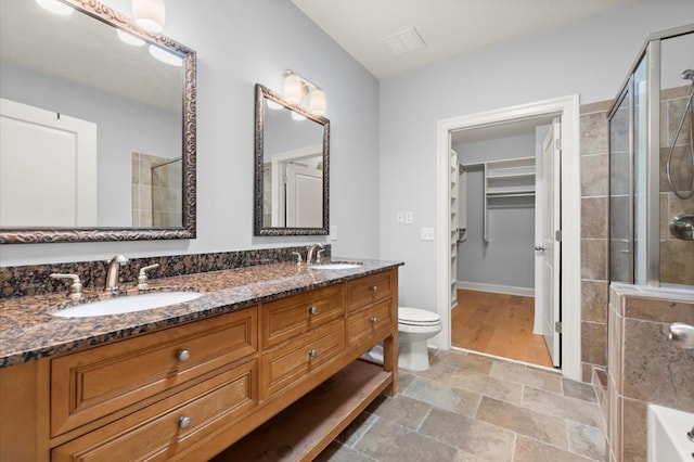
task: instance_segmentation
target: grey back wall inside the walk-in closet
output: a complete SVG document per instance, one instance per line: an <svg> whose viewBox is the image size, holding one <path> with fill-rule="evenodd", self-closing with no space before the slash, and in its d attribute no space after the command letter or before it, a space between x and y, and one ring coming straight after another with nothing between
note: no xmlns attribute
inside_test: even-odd
<svg viewBox="0 0 694 462"><path fill-rule="evenodd" d="M535 133L453 144L462 164L535 157ZM535 288L535 201L490 207L489 242L484 240L484 170L467 171L467 239L458 244L458 280ZM461 193L461 198L463 194Z"/></svg>

